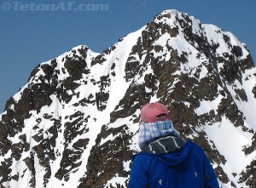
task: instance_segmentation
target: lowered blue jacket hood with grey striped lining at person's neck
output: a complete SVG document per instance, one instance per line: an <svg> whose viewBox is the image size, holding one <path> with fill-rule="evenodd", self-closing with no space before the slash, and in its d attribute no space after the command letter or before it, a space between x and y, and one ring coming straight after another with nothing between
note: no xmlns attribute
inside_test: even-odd
<svg viewBox="0 0 256 188"><path fill-rule="evenodd" d="M191 141L185 142L180 138L168 136L155 140L150 145L144 147L137 155L151 156L169 166L176 166L182 162L189 161L186 159L190 157L192 147Z"/></svg>

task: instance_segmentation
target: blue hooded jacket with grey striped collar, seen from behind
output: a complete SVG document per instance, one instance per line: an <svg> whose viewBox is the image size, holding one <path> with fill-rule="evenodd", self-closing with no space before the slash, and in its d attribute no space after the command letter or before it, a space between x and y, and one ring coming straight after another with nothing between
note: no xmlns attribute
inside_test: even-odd
<svg viewBox="0 0 256 188"><path fill-rule="evenodd" d="M170 145L170 143L174 143ZM174 145L174 146L173 146ZM192 141L166 137L133 157L128 188L218 188L205 152Z"/></svg>

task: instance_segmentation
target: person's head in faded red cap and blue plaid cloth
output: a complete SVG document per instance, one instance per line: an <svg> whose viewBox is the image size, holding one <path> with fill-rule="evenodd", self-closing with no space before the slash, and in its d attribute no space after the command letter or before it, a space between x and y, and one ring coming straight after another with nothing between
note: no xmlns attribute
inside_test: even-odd
<svg viewBox="0 0 256 188"><path fill-rule="evenodd" d="M143 105L138 134L140 148L148 145L153 140L167 135L180 136L177 130L173 128L166 105L162 105L159 102Z"/></svg>

